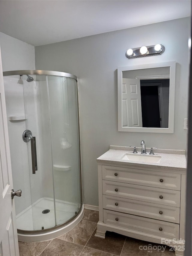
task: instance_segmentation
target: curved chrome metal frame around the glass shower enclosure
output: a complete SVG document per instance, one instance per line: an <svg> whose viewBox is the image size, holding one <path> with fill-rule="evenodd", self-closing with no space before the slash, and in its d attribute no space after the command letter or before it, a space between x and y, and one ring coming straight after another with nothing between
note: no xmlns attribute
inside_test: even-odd
<svg viewBox="0 0 192 256"><path fill-rule="evenodd" d="M46 71L46 70L14 70L14 71L4 71L3 72L3 76L13 76L13 75L51 75L51 76L58 76L58 77L67 77L67 78L73 78L74 80L76 80L76 92L77 92L77 122L78 122L78 136L79 136L79 171L80 171L80 196L81 196L81 205L80 205L80 209L79 211L76 213L76 215L74 215L72 218L70 218L68 221L64 222L63 224L57 225L55 227L51 227L51 228L47 228L44 230L20 230L17 229L17 233L18 233L18 237L19 235L26 235L26 236L30 236L30 235L39 235L39 237L44 237L44 240L47 239L52 239L50 236L50 233L52 231L56 231L59 230L61 232L62 228L64 228L65 226L68 226L68 224L74 222L75 223L75 219L78 216L82 216L83 212L84 212L84 205L82 203L82 164L81 164L81 143L80 143L80 120L79 120L79 92L78 92L78 79L75 75L73 74L69 74L69 73L65 73L65 72L59 72L59 71ZM78 221L79 222L79 221ZM77 222L77 223L78 223ZM76 224L77 224L76 223ZM71 228L70 228L71 229ZM68 230L67 230L68 231ZM48 233L49 236L41 236L41 234L46 234ZM58 234L57 236L61 235ZM50 238L49 238L50 237ZM20 240L21 241L21 240ZM37 239L26 239L26 241L24 242L34 242L34 241L39 241ZM40 238L40 241L43 241L42 238Z"/></svg>

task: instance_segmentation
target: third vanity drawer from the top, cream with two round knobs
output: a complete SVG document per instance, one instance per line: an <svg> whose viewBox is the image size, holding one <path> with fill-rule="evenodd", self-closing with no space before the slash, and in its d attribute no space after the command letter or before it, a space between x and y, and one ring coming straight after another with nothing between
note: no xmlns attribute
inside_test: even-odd
<svg viewBox="0 0 192 256"><path fill-rule="evenodd" d="M103 208L147 218L179 223L180 208L103 195Z"/></svg>

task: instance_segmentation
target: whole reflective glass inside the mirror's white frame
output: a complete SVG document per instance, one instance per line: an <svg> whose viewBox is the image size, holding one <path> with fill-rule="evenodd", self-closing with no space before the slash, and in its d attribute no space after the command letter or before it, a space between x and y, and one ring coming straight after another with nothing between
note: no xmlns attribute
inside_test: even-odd
<svg viewBox="0 0 192 256"><path fill-rule="evenodd" d="M170 79L122 78L122 127L168 128Z"/></svg>

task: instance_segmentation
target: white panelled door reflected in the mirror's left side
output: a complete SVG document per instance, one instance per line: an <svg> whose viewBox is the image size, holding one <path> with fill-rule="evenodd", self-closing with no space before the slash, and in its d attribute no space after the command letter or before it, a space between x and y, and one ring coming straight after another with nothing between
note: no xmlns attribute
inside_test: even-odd
<svg viewBox="0 0 192 256"><path fill-rule="evenodd" d="M143 127L140 79L122 79L122 127Z"/></svg>

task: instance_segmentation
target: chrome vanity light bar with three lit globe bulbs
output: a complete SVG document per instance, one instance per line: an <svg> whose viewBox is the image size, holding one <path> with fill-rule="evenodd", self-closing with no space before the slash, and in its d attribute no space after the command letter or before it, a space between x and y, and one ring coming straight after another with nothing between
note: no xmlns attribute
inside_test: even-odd
<svg viewBox="0 0 192 256"><path fill-rule="evenodd" d="M164 53L165 47L162 44L156 44L151 46L142 46L139 48L133 48L127 50L125 53L125 56L128 59L134 59L138 57L146 57L146 56L152 56L152 55L160 55Z"/></svg>

